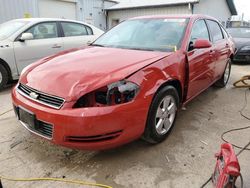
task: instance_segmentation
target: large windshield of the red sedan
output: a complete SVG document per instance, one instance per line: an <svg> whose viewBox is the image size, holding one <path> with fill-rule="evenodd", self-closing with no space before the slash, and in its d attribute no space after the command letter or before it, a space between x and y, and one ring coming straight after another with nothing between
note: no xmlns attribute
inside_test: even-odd
<svg viewBox="0 0 250 188"><path fill-rule="evenodd" d="M92 45L150 51L176 51L188 19L138 19L122 22Z"/></svg>

